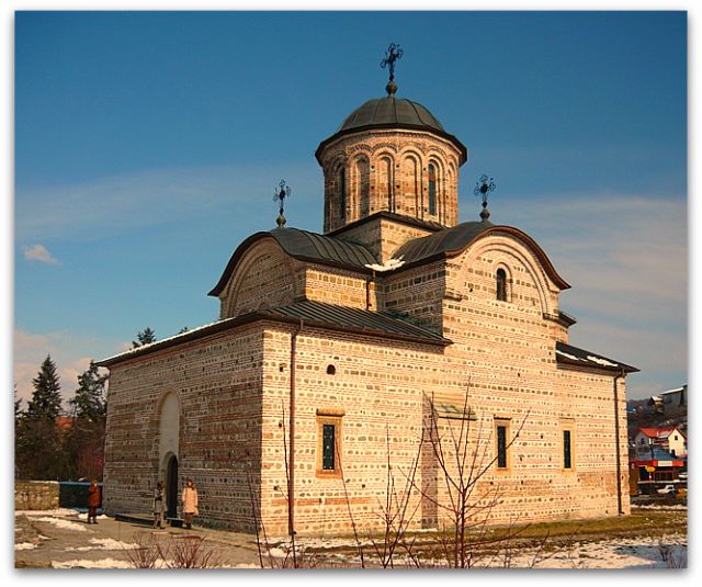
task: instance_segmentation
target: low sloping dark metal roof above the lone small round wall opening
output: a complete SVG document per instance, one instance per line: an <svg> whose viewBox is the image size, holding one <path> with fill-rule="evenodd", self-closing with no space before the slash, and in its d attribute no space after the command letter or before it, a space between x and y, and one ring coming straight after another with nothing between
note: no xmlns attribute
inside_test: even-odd
<svg viewBox="0 0 702 587"><path fill-rule="evenodd" d="M440 334L412 324L397 315L367 309L324 304L321 302L303 301L287 306L278 306L259 311L264 316L285 317L304 320L309 326L320 326L339 330L350 330L370 335L386 335L393 338L406 338L450 345L451 341Z"/></svg>

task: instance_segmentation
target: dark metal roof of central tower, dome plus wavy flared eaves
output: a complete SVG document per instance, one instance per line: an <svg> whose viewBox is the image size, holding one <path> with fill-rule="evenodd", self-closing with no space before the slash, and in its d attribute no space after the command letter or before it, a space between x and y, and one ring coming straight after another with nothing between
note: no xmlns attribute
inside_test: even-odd
<svg viewBox="0 0 702 587"><path fill-rule="evenodd" d="M465 145L455 136L446 133L439 120L427 108L406 98L395 98L395 95L374 98L356 108L346 117L333 135L319 144L315 157L319 161L321 151L338 137L372 128L428 131L453 143L461 151L461 165L468 157Z"/></svg>

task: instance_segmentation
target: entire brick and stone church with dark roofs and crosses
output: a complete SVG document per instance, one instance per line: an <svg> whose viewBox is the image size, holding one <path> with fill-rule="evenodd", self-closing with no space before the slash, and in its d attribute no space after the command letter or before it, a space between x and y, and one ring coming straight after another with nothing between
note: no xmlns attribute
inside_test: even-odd
<svg viewBox="0 0 702 587"><path fill-rule="evenodd" d="M637 369L570 345L570 285L490 219L488 178L479 218L458 222L468 150L397 95L392 65L386 95L315 153L322 232L287 226L281 184L279 226L244 240L210 292L218 319L99 363L109 515L149 512L162 479L178 517L192 478L201 523L340 534L382 524L392 475L412 477L411 528L439 528L450 496L431 430L449 452L465 430L476 499L499 494L490 522L630 512Z"/></svg>

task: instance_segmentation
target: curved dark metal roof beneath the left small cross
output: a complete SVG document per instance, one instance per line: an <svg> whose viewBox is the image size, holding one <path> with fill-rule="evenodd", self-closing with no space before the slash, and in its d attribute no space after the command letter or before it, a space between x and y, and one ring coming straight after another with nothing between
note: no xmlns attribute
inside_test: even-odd
<svg viewBox="0 0 702 587"><path fill-rule="evenodd" d="M237 247L224 273L219 278L217 285L207 295L219 295L225 289L236 264L246 250L256 241L262 238L274 238L281 248L291 257L301 261L330 264L369 273L366 264L376 263L373 253L354 242L347 242L337 238L308 233L299 228L274 228L269 232L261 232L251 235Z"/></svg>

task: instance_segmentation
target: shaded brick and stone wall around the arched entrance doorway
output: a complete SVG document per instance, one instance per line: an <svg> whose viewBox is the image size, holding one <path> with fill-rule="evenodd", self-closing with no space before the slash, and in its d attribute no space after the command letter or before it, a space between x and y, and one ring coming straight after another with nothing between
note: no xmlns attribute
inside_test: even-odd
<svg viewBox="0 0 702 587"><path fill-rule="evenodd" d="M165 455L159 406L180 407L179 492L192 477L200 520L252 531L250 486L261 453L260 325L137 358L111 370L105 443L107 513L150 512Z"/></svg>

